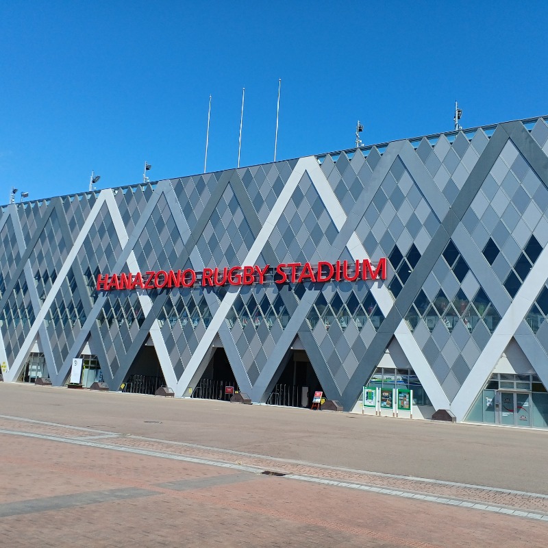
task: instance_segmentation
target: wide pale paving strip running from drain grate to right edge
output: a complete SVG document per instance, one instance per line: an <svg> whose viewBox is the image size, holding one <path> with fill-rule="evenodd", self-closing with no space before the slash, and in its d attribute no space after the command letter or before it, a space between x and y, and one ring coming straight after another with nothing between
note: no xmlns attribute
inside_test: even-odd
<svg viewBox="0 0 548 548"><path fill-rule="evenodd" d="M396 497L412 497L416 499L421 499L429 502L437 502L440 504L447 504L450 506L461 506L462 508L473 508L473 510L486 510L487 512L495 512L495 513L501 513L501 514L508 514L512 516L518 516L518 517L527 517L532 519L539 519L543 521L548 521L548 514L538 514L537 512L527 512L525 510L512 510L511 508L506 508L504 506L495 506L495 505L488 505L488 504L482 504L482 503L473 503L469 501L462 501L459 499L447 499L445 497L433 497L430 495L414 495L413 493L410 493L409 491L401 491L401 490L388 490L383 488L375 488L368 485L361 485L361 484L349 484L349 483L342 483L342 482L334 482L332 479L323 479L320 477L310 477L310 476L302 476L298 474L287 474L286 476L288 479L297 479L298 481L304 481L304 482L312 482L312 483L318 483L322 485L332 485L332 486L338 486L338 487L347 487L347 488L354 488L354 489L361 489L364 491L371 491L373 493L382 493L383 495L393 495Z"/></svg>

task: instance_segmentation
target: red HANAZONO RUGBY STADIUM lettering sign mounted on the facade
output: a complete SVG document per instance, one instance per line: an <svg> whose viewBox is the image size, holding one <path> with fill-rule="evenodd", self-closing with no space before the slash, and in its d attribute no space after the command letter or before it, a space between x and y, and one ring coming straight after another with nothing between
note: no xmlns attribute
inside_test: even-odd
<svg viewBox="0 0 548 548"><path fill-rule="evenodd" d="M373 266L369 259L356 262L337 261L331 264L319 261L312 266L310 262L282 262L277 266L266 264L260 266L232 266L224 269L206 268L203 271L159 270L133 274L99 274L97 275L97 291L113 289L163 289L173 287L192 287L198 284L207 287L249 286L251 284L285 284L286 282L356 282L358 279L386 279L386 257L379 259L377 266Z"/></svg>

